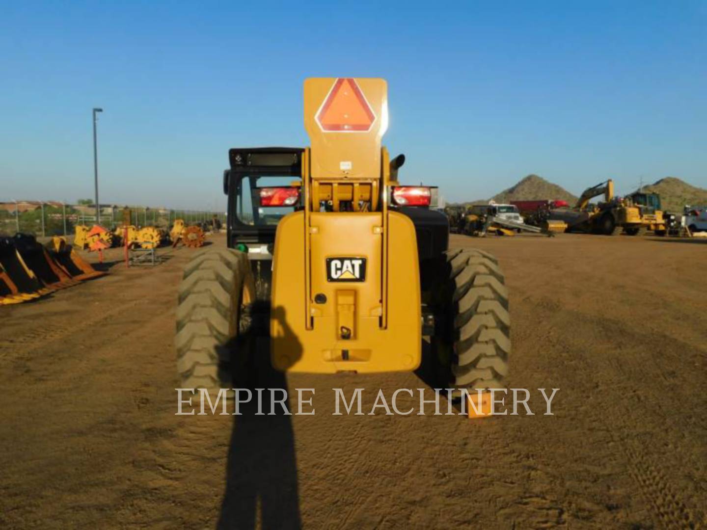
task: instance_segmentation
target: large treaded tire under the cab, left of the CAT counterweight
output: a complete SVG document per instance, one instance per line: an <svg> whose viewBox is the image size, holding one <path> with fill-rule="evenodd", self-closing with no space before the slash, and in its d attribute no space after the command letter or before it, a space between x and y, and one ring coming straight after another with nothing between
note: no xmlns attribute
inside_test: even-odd
<svg viewBox="0 0 707 530"><path fill-rule="evenodd" d="M230 383L232 342L250 281L247 256L234 249L204 250L185 267L175 336L182 388L213 390Z"/></svg>

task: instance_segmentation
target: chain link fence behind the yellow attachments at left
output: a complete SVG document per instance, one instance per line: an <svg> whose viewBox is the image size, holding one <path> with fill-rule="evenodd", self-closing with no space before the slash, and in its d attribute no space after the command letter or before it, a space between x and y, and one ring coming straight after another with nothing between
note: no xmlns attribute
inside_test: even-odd
<svg viewBox="0 0 707 530"><path fill-rule="evenodd" d="M130 223L137 227L156 226L169 228L175 219L187 225L210 223L217 218L225 223L223 212L182 210L153 206L100 206L100 220L96 223L95 206L91 204L64 204L56 201L7 201L0 202L0 234L17 232L36 237L73 235L76 225L100 224L111 230L123 224L129 212Z"/></svg>

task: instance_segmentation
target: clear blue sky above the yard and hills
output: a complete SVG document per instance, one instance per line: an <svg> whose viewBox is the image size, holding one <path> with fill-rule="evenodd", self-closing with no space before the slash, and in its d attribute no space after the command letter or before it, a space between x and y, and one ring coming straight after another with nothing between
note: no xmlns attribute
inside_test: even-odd
<svg viewBox="0 0 707 530"><path fill-rule="evenodd" d="M341 5L342 7L339 7ZM389 83L384 143L448 200L707 187L707 3L6 2L0 200L223 208L234 146L305 146L310 76Z"/></svg>

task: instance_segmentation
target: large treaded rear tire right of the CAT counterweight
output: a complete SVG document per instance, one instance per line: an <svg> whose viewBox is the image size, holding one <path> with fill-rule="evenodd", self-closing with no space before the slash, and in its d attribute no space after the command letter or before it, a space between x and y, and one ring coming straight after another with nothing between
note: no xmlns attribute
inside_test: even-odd
<svg viewBox="0 0 707 530"><path fill-rule="evenodd" d="M508 290L498 261L477 249L445 253L433 353L455 389L505 388L510 355Z"/></svg>

